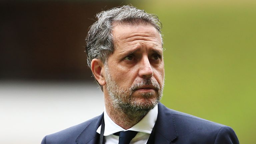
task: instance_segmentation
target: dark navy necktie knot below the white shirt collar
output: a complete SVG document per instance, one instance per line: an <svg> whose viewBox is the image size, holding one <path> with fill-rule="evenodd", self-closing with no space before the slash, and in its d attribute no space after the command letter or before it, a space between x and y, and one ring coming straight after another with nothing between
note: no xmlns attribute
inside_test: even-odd
<svg viewBox="0 0 256 144"><path fill-rule="evenodd" d="M137 131L121 131L119 134L118 144L129 144L131 140L136 136Z"/></svg>

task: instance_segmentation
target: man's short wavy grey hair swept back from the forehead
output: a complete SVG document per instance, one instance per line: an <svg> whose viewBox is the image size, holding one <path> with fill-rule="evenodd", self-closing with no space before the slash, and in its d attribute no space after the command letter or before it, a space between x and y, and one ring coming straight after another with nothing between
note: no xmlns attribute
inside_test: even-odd
<svg viewBox="0 0 256 144"><path fill-rule="evenodd" d="M110 54L114 52L112 30L115 24L151 24L159 32L161 41L162 24L154 14L148 14L144 10L125 5L107 11L102 11L96 15L98 19L90 26L86 37L87 64L91 68L92 59L101 60L104 64ZM102 90L102 86L101 86Z"/></svg>

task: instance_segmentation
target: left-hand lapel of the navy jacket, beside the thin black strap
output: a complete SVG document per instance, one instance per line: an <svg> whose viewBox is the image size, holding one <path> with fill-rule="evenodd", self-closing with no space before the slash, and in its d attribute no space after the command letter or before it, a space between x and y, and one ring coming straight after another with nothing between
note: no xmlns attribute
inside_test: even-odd
<svg viewBox="0 0 256 144"><path fill-rule="evenodd" d="M94 118L91 123L80 133L76 138L77 144L97 144L99 141L99 134L96 132L101 125L103 114Z"/></svg>

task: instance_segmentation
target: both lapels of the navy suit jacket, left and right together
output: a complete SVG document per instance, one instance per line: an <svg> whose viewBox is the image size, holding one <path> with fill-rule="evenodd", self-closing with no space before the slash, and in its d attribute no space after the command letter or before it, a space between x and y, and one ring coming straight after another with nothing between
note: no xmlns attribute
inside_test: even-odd
<svg viewBox="0 0 256 144"><path fill-rule="evenodd" d="M99 134L96 132L101 125L103 114L91 120L88 126L76 138L77 144L97 144ZM170 109L163 104L158 104L158 116L155 123L155 144L174 144L171 143L178 137L175 121Z"/></svg>

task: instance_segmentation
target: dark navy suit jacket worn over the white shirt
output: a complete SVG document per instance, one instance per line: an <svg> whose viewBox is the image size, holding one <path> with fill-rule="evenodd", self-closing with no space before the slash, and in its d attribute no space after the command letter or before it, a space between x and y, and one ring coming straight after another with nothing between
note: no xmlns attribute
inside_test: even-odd
<svg viewBox="0 0 256 144"><path fill-rule="evenodd" d="M41 144L98 144L103 114L47 135ZM232 128L158 104L155 144L239 144Z"/></svg>

